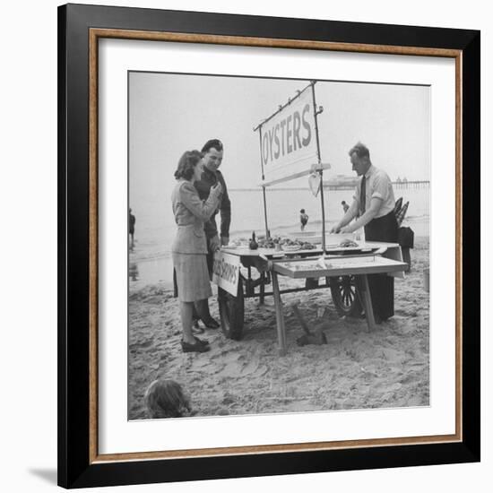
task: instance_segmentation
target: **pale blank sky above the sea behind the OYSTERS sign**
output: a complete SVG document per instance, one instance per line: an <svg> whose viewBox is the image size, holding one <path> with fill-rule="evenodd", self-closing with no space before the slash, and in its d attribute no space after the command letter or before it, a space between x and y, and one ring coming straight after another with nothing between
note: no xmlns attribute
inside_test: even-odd
<svg viewBox="0 0 493 493"><path fill-rule="evenodd" d="M169 195L184 151L211 138L224 144L221 171L229 188L261 182L254 128L309 81L197 74L129 75L130 203ZM428 180L430 93L426 86L364 82L316 83L324 179L355 176L348 151L368 146L373 164L391 179ZM307 186L307 177L281 186Z"/></svg>

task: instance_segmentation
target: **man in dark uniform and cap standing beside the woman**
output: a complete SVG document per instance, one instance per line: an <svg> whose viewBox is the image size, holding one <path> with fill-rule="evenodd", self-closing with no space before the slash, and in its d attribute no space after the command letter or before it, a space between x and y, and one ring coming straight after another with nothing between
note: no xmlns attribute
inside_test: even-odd
<svg viewBox="0 0 493 493"><path fill-rule="evenodd" d="M207 266L209 267L209 274L212 276L212 267L214 264L214 252L219 250L221 245L228 245L229 243L229 224L231 222L231 203L229 201L228 188L224 182L219 167L222 163L223 147L221 141L218 139L212 139L207 141L202 148L203 153L203 173L199 181L195 181L195 188L202 200L206 200L209 196L211 187L218 181L221 183L222 193L220 195L219 207L212 214L209 221L205 222L204 230L207 238ZM218 232L216 224L216 214L221 211L221 238ZM203 299L199 302L199 314L203 323L208 328L218 328L219 324L216 322L209 311L209 302L207 299Z"/></svg>

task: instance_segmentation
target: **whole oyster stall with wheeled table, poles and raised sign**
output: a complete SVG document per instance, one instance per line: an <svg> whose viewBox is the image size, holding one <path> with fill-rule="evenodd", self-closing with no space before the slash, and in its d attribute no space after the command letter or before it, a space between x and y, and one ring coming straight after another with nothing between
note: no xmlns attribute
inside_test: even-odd
<svg viewBox="0 0 493 493"><path fill-rule="evenodd" d="M402 262L401 247L397 243L366 242L354 233L326 233L322 184L324 169L329 169L330 165L322 163L320 158L317 116L323 108L316 105L315 85L316 82L310 82L254 129L260 136L264 236L258 241L253 236L249 242L237 241L221 247L214 258L212 279L218 285L223 333L230 339L241 339L245 299L258 298L263 304L265 297L272 296L281 355L287 348L282 294L329 289L340 315L360 316L364 312L368 330L371 330L375 318L368 274L402 277L407 267ZM282 148L279 140L276 148L280 128ZM287 128L286 132L284 128ZM265 188L304 176L308 176L312 193L320 193L321 231L292 232L290 238L272 236ZM281 289L280 276L299 280L300 285Z"/></svg>

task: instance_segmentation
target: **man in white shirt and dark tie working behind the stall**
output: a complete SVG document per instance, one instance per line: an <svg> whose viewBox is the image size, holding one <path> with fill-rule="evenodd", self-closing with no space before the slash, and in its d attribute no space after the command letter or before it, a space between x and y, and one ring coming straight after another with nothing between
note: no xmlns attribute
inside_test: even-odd
<svg viewBox="0 0 493 493"><path fill-rule="evenodd" d="M349 155L352 169L361 179L350 208L331 232L351 233L364 227L366 241L397 243L394 188L390 178L385 171L372 165L364 144L357 143L350 149ZM357 216L359 218L350 224ZM394 277L368 275L368 284L376 322L394 316Z"/></svg>

